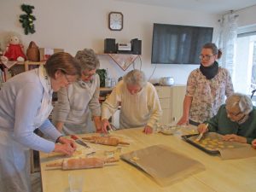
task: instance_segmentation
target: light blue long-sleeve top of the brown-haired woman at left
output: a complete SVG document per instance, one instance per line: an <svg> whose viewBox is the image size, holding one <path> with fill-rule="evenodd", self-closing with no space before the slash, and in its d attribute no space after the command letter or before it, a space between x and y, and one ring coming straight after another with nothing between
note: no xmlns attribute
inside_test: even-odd
<svg viewBox="0 0 256 192"><path fill-rule="evenodd" d="M8 131L24 147L49 153L54 150L55 143L33 132L38 128L33 121L41 107L43 95L38 69L9 79L0 90L0 134L3 134L1 131ZM54 141L61 136L49 119L44 121L39 130ZM4 142L8 141L1 141Z"/></svg>

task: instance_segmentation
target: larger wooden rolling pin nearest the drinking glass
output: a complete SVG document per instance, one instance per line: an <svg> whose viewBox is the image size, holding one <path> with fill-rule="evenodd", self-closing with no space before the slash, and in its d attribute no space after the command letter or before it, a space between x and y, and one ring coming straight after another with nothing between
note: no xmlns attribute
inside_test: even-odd
<svg viewBox="0 0 256 192"><path fill-rule="evenodd" d="M67 159L60 162L46 164L48 168L60 168L62 170L73 169L89 169L89 168L101 168L105 164L117 162L119 160L114 158L108 158L102 160L99 158L79 158L79 159Z"/></svg>

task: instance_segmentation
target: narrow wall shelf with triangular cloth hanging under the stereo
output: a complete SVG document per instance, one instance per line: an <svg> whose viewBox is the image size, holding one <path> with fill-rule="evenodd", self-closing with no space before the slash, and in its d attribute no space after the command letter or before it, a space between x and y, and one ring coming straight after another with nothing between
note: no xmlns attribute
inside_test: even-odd
<svg viewBox="0 0 256 192"><path fill-rule="evenodd" d="M131 64L140 57L140 55L133 54L97 54L97 55L108 55L121 69L124 71L131 66Z"/></svg>

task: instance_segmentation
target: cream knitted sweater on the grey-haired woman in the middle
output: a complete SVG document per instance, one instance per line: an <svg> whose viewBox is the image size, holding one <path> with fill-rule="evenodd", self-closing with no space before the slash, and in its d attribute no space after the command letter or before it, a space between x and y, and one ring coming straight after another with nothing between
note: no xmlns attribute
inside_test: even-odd
<svg viewBox="0 0 256 192"><path fill-rule="evenodd" d="M102 103L102 119L109 119L120 108L120 128L149 125L154 127L162 110L153 84L149 82L137 94L131 95L124 81L115 86L108 99Z"/></svg>

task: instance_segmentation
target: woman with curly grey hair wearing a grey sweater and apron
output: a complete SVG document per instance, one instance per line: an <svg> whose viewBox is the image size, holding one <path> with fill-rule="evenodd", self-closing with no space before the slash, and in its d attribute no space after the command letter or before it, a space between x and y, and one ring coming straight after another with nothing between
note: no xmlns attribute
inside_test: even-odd
<svg viewBox="0 0 256 192"><path fill-rule="evenodd" d="M96 131L99 132L102 130L102 121L100 79L96 69L100 67L100 61L92 49L79 50L75 58L82 68L81 79L58 91L53 122L58 131L65 135L88 133L94 131L91 129L92 116Z"/></svg>

